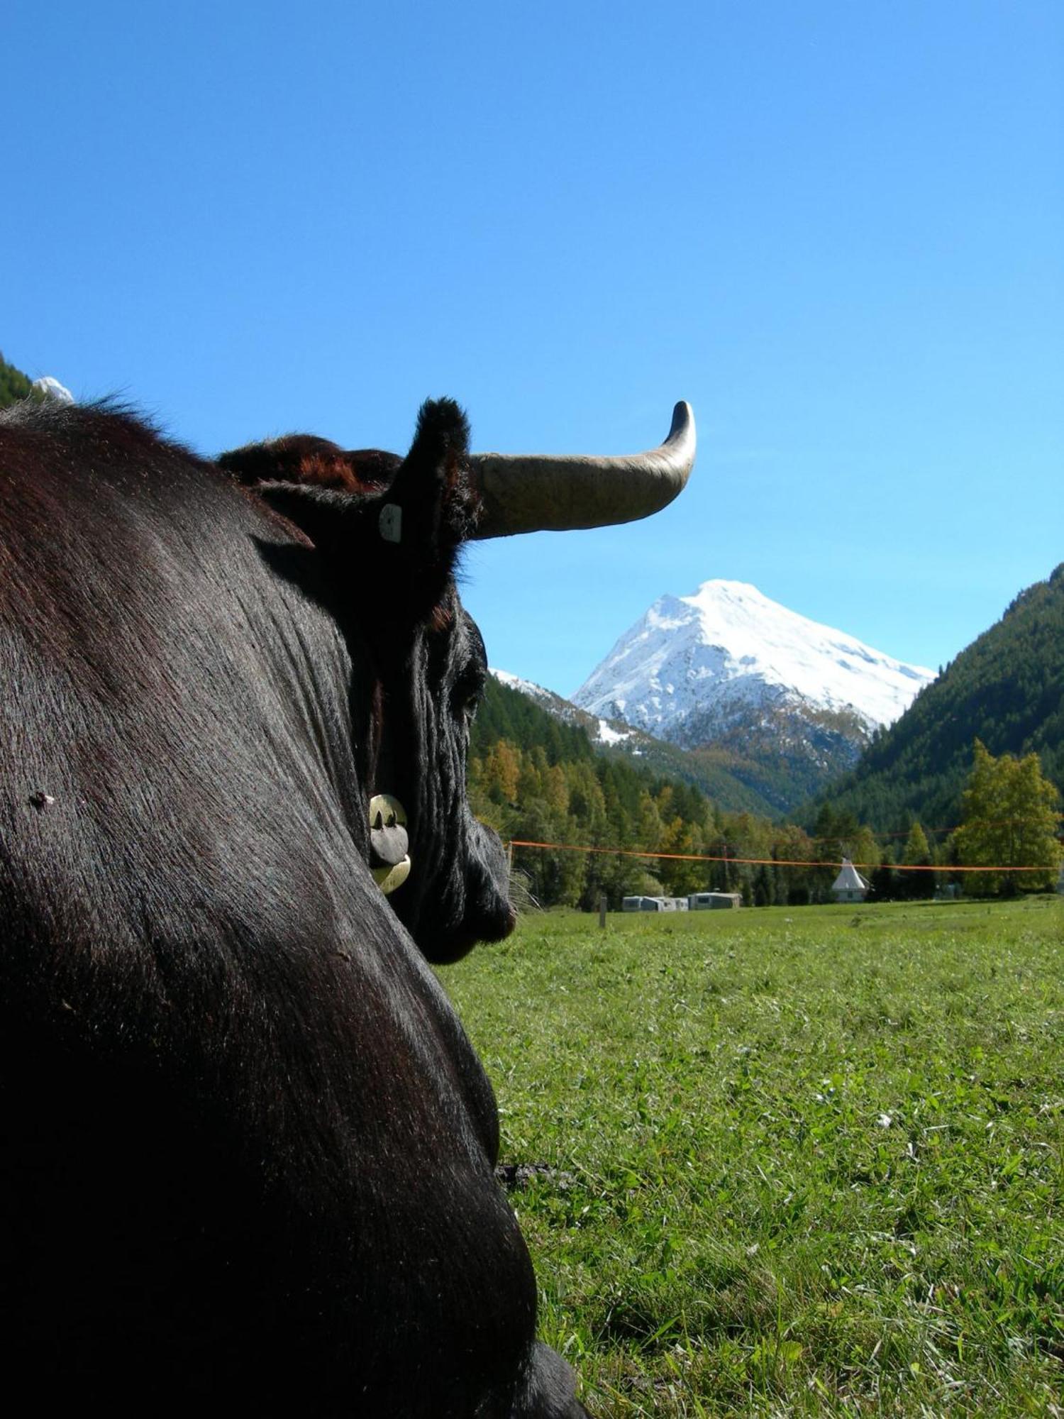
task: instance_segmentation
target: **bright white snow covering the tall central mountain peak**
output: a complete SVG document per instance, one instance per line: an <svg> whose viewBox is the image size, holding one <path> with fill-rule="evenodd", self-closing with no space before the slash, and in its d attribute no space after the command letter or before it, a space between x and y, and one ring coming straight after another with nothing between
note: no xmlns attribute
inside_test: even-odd
<svg viewBox="0 0 1064 1419"><path fill-rule="evenodd" d="M756 586L712 580L692 596L654 602L573 702L674 742L689 744L692 734L706 742L736 715L787 707L854 717L870 732L897 719L933 678Z"/></svg>

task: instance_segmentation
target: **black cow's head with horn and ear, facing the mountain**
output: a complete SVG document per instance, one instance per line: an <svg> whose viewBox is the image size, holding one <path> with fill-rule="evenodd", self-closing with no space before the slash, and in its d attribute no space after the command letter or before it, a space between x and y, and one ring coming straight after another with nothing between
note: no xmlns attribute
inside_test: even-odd
<svg viewBox="0 0 1064 1419"><path fill-rule="evenodd" d="M370 660L370 851L430 961L454 961L514 925L502 844L465 797L487 658L454 585L462 542L645 517L682 488L694 448L691 410L677 404L667 441L631 458L470 454L464 413L437 400L421 407L401 460L308 436L221 457L314 542L348 636ZM406 877L389 871L403 833Z"/></svg>

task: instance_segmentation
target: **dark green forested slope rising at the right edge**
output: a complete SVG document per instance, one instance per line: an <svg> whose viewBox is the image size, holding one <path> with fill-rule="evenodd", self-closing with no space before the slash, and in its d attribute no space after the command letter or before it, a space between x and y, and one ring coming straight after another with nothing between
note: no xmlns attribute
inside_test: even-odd
<svg viewBox="0 0 1064 1419"><path fill-rule="evenodd" d="M1064 790L1064 563L1021 592L819 803L881 832L912 819L952 827L976 738L992 755L1037 753Z"/></svg>

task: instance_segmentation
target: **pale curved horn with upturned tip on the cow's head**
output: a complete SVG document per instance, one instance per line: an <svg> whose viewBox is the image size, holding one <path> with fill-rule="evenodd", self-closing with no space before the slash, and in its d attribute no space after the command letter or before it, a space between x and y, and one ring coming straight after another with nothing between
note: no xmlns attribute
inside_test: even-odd
<svg viewBox="0 0 1064 1419"><path fill-rule="evenodd" d="M681 400L658 448L621 458L470 454L482 512L474 538L634 522L682 490L695 463L695 416Z"/></svg>

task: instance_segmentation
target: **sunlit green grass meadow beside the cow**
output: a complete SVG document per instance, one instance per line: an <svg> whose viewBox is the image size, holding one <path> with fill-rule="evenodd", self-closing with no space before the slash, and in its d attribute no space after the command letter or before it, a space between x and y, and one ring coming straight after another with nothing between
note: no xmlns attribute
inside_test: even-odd
<svg viewBox="0 0 1064 1419"><path fill-rule="evenodd" d="M441 976L597 1419L1064 1415L1064 901L532 915Z"/></svg>

